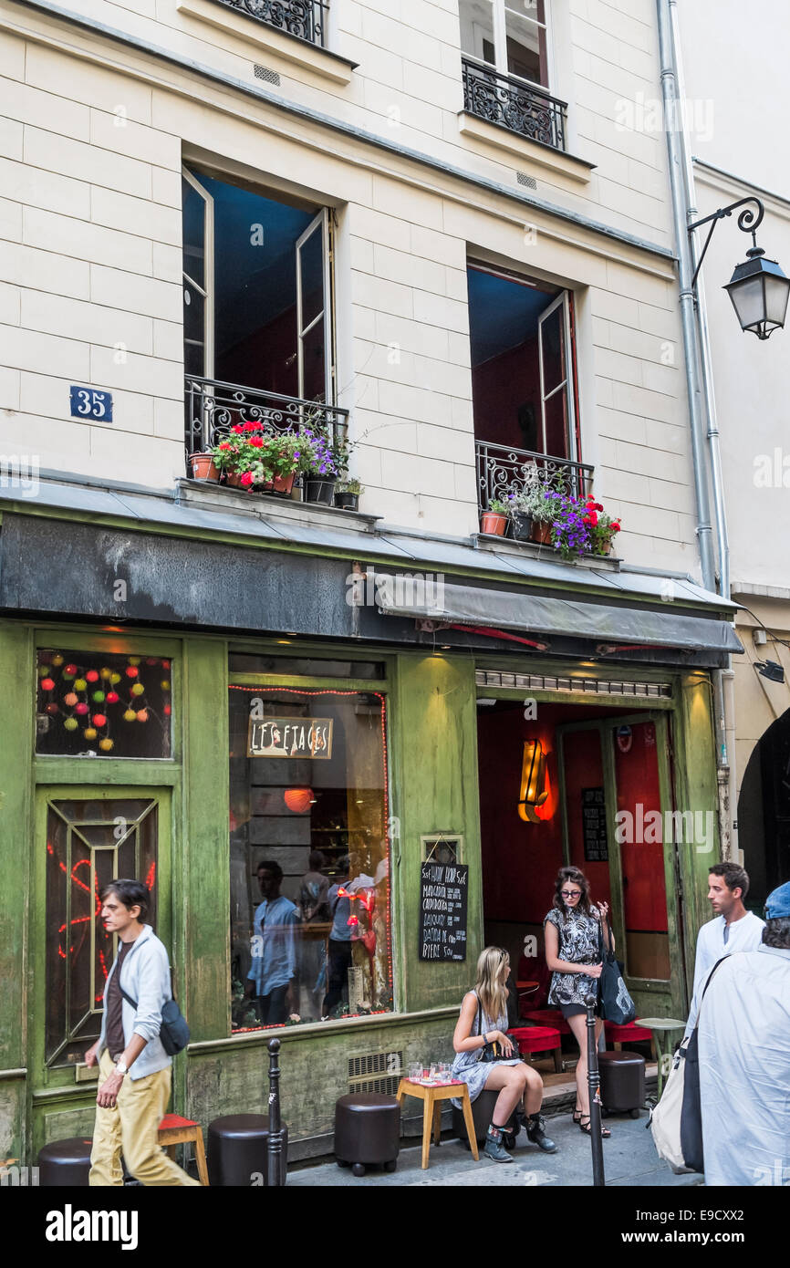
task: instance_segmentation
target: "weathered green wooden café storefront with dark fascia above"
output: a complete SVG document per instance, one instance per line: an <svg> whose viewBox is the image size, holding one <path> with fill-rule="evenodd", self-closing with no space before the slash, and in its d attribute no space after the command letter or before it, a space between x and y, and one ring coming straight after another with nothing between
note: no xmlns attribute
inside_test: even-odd
<svg viewBox="0 0 790 1268"><path fill-rule="evenodd" d="M508 639L496 612L503 621L502 595L550 597L566 602L571 615L580 596L601 607L601 600L611 602L619 578L624 620L640 610L670 621L676 614L681 625L699 620L710 635L714 626L727 630L728 612L715 596L678 583L667 612L658 586L651 592L643 574L629 586L624 572L552 563L543 571L535 564L528 576L522 563L515 569L506 557L502 564L483 549L383 538L373 524L356 531L344 524L268 535L265 517L237 510L238 500L228 500L223 522L213 526L165 498L126 493L110 506L108 493L86 498L76 491L43 484L34 508L15 502L10 491L0 525L4 1158L32 1163L46 1141L91 1131L95 1082L86 1078L81 1052L86 1037L98 1032L101 980L98 970L90 975L99 962L98 943L90 943L89 987L76 981L70 957L80 922L85 936L98 924L91 895L101 851L101 867L134 858L156 876L156 928L170 948L174 985L191 1030L186 1054L175 1061L172 1108L204 1130L223 1113L264 1112L266 1041L276 1033L292 1156L331 1151L335 1101L350 1088L392 1088L411 1060L451 1055L454 1019L484 941L501 941L517 956L525 938L540 933L539 913L549 907L550 880L563 856L590 857L580 853L576 825L590 785L600 791L601 806L600 850L591 856L597 895L610 896L619 945L633 955L626 969L638 1008L682 1016L696 929L708 917L704 883L718 857L715 829L680 843L664 833L663 842L648 842L639 856L629 853L630 842L618 841L615 815L634 803L629 787L639 771L623 763L643 744L640 768L649 765L644 779L652 781L644 805L664 818L667 812L691 812L689 822L695 812L705 823L713 814L715 823L710 670L722 663L723 652L711 647L715 639L708 638L705 647L700 637L691 649L645 645L618 654L604 652L586 628L580 637L571 628L545 635L539 650ZM495 615L459 629L462 620L431 626L402 611L383 615L382 605L355 606L347 578L372 560L379 573L430 569L448 583L488 590ZM529 559L526 567L533 567ZM410 602L420 609L413 592ZM101 727L80 753L47 751L71 743L58 728L66 718L62 701L71 697L63 689L74 676L55 678L71 667L82 673L86 664L99 666L94 672L105 677L104 687L115 664L120 687L128 686L126 666L157 680L145 697L155 701L151 716L142 721L157 714L167 733L166 753L99 751ZM55 685L44 689L43 682ZM101 678L94 682L100 692ZM85 691L91 685L89 680ZM373 979L380 967L387 984L378 990L378 1007L358 1008L358 1016L275 1031L233 1030L233 978L240 974L233 850L241 851L242 867L255 867L270 841L260 827L254 839L251 820L236 823L236 847L231 839L233 817L238 820L232 763L237 758L240 770L255 766L243 753L233 757L233 690L270 697L274 711L283 699L309 697L318 702L304 705L308 718L320 716L322 701L335 708L335 697L342 696L346 711L337 704L333 715L336 752L345 752L340 746L353 708L377 770L383 758L375 834L385 822L377 857L380 864L387 856L387 866L377 872L375 900L385 935L379 924L380 964L372 959L370 974ZM81 700L85 691L75 695ZM56 697L60 705L47 711L42 701L52 706ZM109 714L107 702L101 708ZM544 728L541 752L550 757L550 798L544 803L553 805L550 823L526 823L517 814L521 751L538 735L536 720ZM115 734L122 737L123 729ZM57 738L49 743L47 735ZM115 744L123 748L120 738ZM350 752L346 767L368 770L364 744L359 757ZM321 758L313 753L304 761L295 782L320 787ZM365 780L370 782L359 775L358 784ZM350 789L351 779L346 782ZM373 813L365 795L349 794L349 806L361 810L347 814ZM313 810L298 810L307 815L309 836L298 847L306 850L308 842L316 844L316 832L330 829L311 829ZM349 819L331 831L358 829L363 833L365 825ZM421 865L436 841L450 842L454 857L469 869L465 959L446 962L421 957ZM629 880L633 889L645 867L652 869L653 893L661 890L661 902L653 903L658 914L652 928L630 928ZM252 933L251 910L241 907L237 924ZM640 964L666 965L666 971L652 978L645 969L630 971ZM74 1012L80 990L80 998L87 998L85 990L93 995L90 1016Z"/></svg>

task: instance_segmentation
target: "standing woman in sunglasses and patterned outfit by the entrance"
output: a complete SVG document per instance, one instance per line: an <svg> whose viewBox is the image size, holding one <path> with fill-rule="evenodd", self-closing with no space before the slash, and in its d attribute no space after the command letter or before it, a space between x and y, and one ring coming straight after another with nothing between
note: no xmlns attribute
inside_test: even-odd
<svg viewBox="0 0 790 1268"><path fill-rule="evenodd" d="M573 1122L590 1135L590 1093L587 1089L587 1008L588 994L597 997L601 976L601 921L609 914L609 903L590 903L590 881L578 867L560 867L554 884L552 910L543 924L545 933L545 962L552 970L549 1006L559 1008L578 1044L576 1066L576 1110ZM615 948L609 924L604 926L604 940ZM597 1012L597 1008L596 1008ZM604 1022L596 1017L596 1044ZM601 1127L602 1136L610 1136Z"/></svg>

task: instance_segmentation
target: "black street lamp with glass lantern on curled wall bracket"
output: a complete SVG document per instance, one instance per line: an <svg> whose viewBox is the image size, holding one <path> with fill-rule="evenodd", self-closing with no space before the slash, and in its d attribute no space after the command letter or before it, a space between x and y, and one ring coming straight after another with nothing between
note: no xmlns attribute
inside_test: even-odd
<svg viewBox="0 0 790 1268"><path fill-rule="evenodd" d="M751 207L743 207L744 203L756 203L757 212ZM737 207L743 207L738 217L738 228L752 235L752 246L746 252L747 257L743 264L735 265L724 290L733 302L741 330L751 330L757 335L757 339L768 339L772 331L785 325L787 299L790 298L790 278L785 276L776 260L766 260L765 251L757 246L757 226L765 216L765 207L758 198L742 198L737 203L730 203L729 207L719 208L713 216L706 216L689 226L691 233L701 224L713 222L699 264L694 270L691 289L694 290L713 231L719 221L724 219L725 216L732 216Z"/></svg>

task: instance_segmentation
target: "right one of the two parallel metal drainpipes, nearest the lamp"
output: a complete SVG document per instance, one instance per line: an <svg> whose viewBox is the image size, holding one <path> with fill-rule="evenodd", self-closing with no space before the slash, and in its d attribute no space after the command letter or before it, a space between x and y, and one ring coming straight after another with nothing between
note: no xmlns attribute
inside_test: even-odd
<svg viewBox="0 0 790 1268"><path fill-rule="evenodd" d="M686 86L683 81L683 58L680 38L680 18L677 0L670 0L670 22L672 25L672 55L675 58L675 71L677 76L677 91L681 101L686 100ZM687 224L692 224L699 217L696 205L696 189L694 181L694 164L691 161L691 148L689 146L689 133L683 126L681 132L681 146L683 152L683 170L686 178L686 217ZM696 268L699 259L699 245L696 230L691 233L691 261ZM729 534L727 529L727 511L724 498L724 477L722 473L722 451L719 444L719 421L716 415L716 397L713 382L713 358L710 351L710 332L708 326L708 304L705 301L705 283L703 274L696 280L696 320L700 336L700 364L703 369L703 387L705 389L705 415L708 421L708 453L710 456L710 483L713 488L713 505L716 525L716 552L719 557L719 592L730 597L729 573ZM734 678L732 657L727 657L724 670L716 670L713 676L714 705L720 713L720 728L724 732L724 758L719 762L719 832L722 839L722 857L728 860L738 858L738 828L737 828L737 772L735 772L735 713L734 713ZM727 787L722 787L725 776Z"/></svg>

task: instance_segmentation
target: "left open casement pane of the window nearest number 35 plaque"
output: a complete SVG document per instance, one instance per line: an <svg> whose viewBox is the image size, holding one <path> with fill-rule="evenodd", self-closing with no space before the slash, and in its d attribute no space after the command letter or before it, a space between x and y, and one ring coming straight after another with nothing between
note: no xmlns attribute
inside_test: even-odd
<svg viewBox="0 0 790 1268"><path fill-rule="evenodd" d="M184 369L214 374L214 199L181 172L184 208Z"/></svg>

